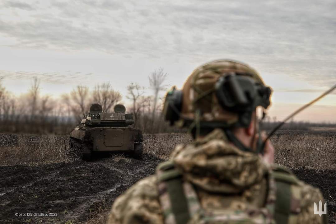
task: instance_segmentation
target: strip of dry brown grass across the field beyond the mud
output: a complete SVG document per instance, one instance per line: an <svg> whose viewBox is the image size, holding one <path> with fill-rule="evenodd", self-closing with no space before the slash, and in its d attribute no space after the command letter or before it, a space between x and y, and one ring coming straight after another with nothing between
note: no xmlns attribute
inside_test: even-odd
<svg viewBox="0 0 336 224"><path fill-rule="evenodd" d="M7 138L7 139L6 139ZM67 136L0 136L0 165L71 162ZM177 144L188 144L188 134L144 135L144 152L161 159ZM277 135L271 138L275 162L291 169L336 169L336 137L322 135ZM115 155L115 160L120 156ZM123 156L122 156L123 157ZM126 159L123 157L123 159Z"/></svg>

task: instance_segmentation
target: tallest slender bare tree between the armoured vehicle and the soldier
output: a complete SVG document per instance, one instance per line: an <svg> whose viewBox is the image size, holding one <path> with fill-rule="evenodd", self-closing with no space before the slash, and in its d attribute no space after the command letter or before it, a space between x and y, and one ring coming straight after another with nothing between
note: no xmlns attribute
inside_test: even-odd
<svg viewBox="0 0 336 224"><path fill-rule="evenodd" d="M157 104L159 100L160 91L165 89L164 81L167 77L167 73L164 73L163 68L159 68L151 73L148 77L151 89L153 89L154 93L154 103L152 108L152 120L153 123L155 121L155 113L157 110Z"/></svg>

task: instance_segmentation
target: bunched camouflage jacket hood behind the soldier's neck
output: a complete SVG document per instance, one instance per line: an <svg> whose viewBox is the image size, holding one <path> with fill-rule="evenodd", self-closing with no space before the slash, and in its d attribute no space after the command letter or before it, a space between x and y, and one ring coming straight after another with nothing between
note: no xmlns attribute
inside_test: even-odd
<svg viewBox="0 0 336 224"><path fill-rule="evenodd" d="M228 142L221 129L192 144L177 146L171 159L183 178L210 192L242 192L260 182L269 170L258 154Z"/></svg>

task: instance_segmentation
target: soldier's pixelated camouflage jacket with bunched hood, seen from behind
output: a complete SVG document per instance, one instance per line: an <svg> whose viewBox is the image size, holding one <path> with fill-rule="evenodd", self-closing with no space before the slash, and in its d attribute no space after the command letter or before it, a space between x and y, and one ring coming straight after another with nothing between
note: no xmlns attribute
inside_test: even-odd
<svg viewBox="0 0 336 224"><path fill-rule="evenodd" d="M178 145L156 175L119 196L108 224L177 223L167 182L161 178L171 164L181 176L190 224L276 223L275 218L278 223L326 223L326 215L314 214L314 203L324 203L319 189L286 168L270 166L260 156L239 150L216 129L202 140Z"/></svg>

